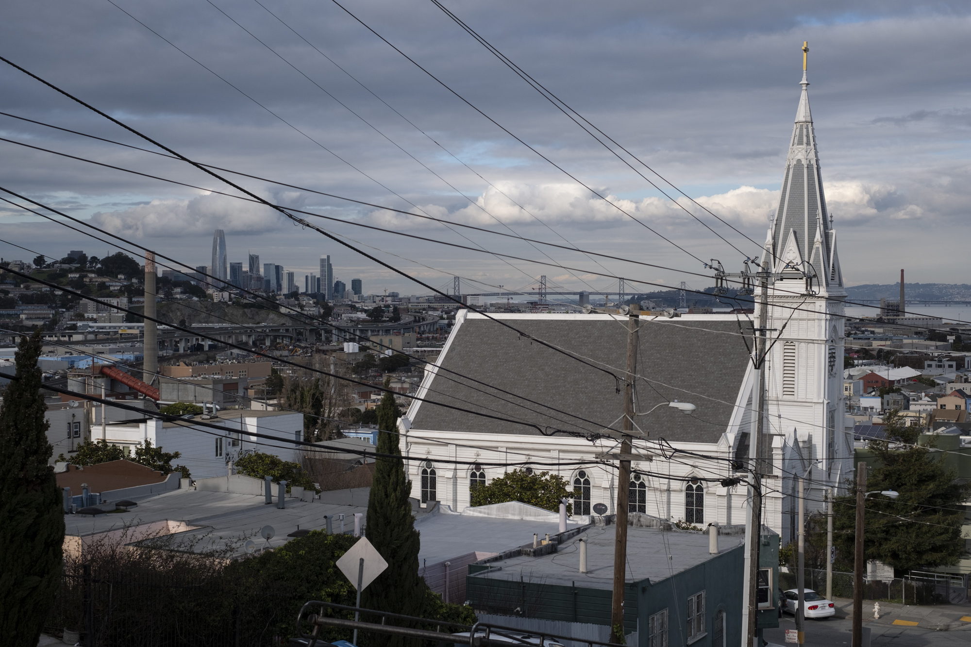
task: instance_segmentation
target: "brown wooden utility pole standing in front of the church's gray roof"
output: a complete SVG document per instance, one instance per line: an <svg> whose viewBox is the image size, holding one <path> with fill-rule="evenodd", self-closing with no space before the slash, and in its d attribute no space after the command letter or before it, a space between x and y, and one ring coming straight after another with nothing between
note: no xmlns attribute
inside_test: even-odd
<svg viewBox="0 0 971 647"><path fill-rule="evenodd" d="M627 568L627 511L630 503L630 434L634 431L634 376L637 374L637 344L640 318L627 315L627 373L623 384L623 439L620 441L620 469L617 487L617 532L614 539L614 599L611 604L610 641L622 645L623 588Z"/></svg>

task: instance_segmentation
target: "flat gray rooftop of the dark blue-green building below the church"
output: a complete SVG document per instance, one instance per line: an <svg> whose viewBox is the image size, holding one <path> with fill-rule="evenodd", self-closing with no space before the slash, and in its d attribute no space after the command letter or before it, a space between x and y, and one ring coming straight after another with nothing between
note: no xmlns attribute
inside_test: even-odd
<svg viewBox="0 0 971 647"><path fill-rule="evenodd" d="M543 557L519 556L489 562L492 568L477 577L519 582L541 581L545 584L580 586L590 589L614 588L614 538L616 526L591 527L558 547L558 552ZM580 572L580 538L586 538L586 573ZM529 540L532 541L530 533ZM719 554L745 544L741 535L720 535ZM521 545L521 542L520 544ZM510 547L511 548L511 547ZM472 549L469 549L472 550ZM508 550L508 549L507 549ZM501 551L493 551L501 552ZM688 568L707 562L708 534L661 530L659 528L627 528L627 582L650 579L658 582Z"/></svg>

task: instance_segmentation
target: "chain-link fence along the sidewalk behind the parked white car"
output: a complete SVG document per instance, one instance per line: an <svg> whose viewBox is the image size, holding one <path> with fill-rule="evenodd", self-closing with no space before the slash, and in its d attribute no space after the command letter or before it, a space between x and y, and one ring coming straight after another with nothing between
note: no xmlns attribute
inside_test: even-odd
<svg viewBox="0 0 971 647"><path fill-rule="evenodd" d="M794 568L779 573L784 590L796 588ZM820 594L826 591L826 571L806 569L805 586ZM854 574L834 571L833 596L853 597ZM968 579L946 573L912 572L892 580L863 580L863 599L903 604L960 604L968 598Z"/></svg>

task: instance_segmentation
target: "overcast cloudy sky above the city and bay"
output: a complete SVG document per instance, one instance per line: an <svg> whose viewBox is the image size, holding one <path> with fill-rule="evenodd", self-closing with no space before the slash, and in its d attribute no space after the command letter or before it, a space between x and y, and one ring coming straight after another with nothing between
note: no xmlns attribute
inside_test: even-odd
<svg viewBox="0 0 971 647"><path fill-rule="evenodd" d="M809 41L823 181L848 284L893 283L900 267L909 282L969 282L959 268L971 200L971 5L443 0L743 232L682 198L740 253L434 3L341 1L360 21L333 2L306 0L9 0L0 54L187 157L301 187L227 175L277 204L337 219L307 216L435 287L451 286L452 274L463 291L529 289L541 274L551 288L616 287L599 273L703 288L712 282L683 273L702 272L698 258L737 271L742 253L758 253L745 236L764 240ZM0 86L8 115L156 150L2 63ZM0 142L0 186L190 265L210 263L221 228L231 261L251 251L295 272L301 285L329 254L336 277L362 278L366 291L426 291L265 206L202 190L238 194L184 162L9 116L0 115L0 130L8 140L200 187ZM668 269L534 247L312 190ZM119 249L6 204L0 239L6 258L29 256L11 243L56 256Z"/></svg>

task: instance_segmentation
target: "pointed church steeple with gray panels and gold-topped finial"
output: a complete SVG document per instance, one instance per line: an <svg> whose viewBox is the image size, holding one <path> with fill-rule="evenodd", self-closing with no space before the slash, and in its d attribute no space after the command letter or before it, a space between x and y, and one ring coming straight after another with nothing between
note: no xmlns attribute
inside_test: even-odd
<svg viewBox="0 0 971 647"><path fill-rule="evenodd" d="M779 209L769 233L773 271L787 264L815 273L820 289L842 288L836 233L822 190L816 130L809 109L808 43L802 46L802 92L795 112Z"/></svg>

